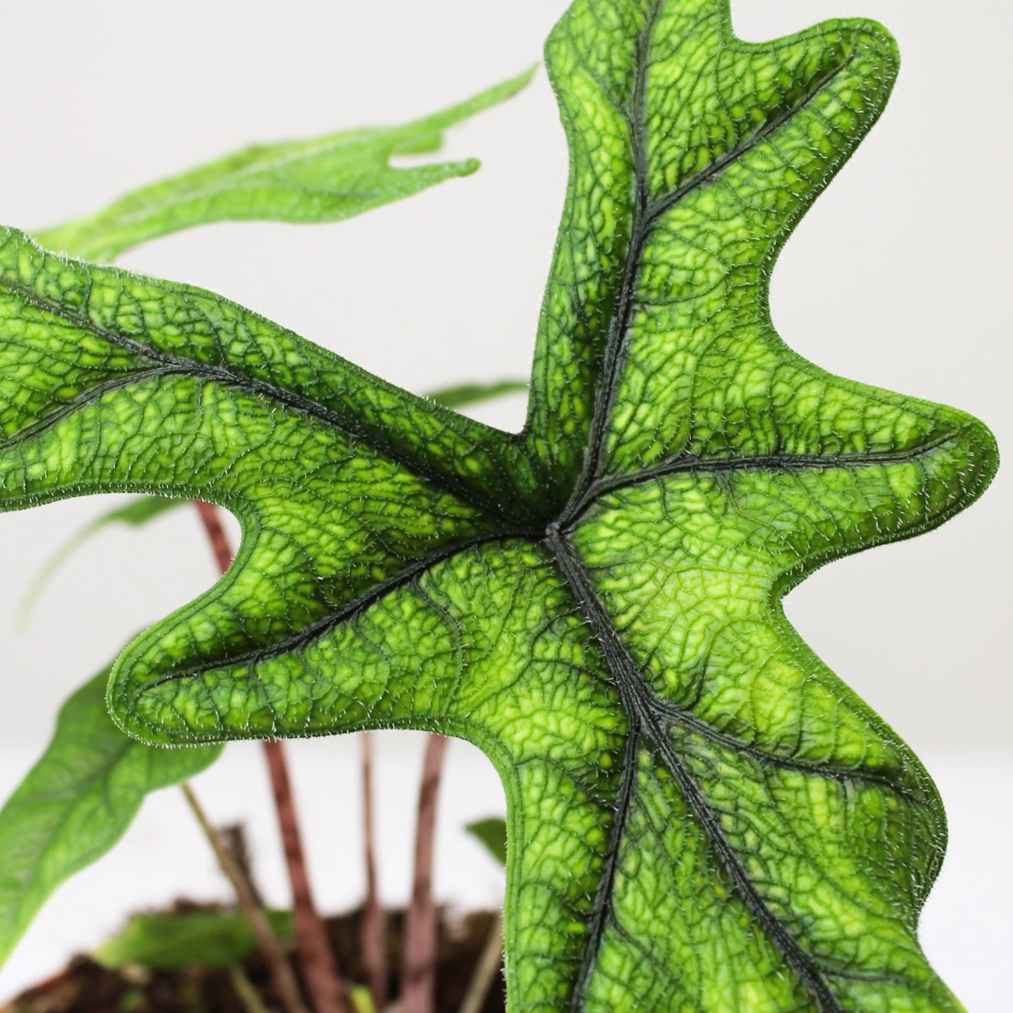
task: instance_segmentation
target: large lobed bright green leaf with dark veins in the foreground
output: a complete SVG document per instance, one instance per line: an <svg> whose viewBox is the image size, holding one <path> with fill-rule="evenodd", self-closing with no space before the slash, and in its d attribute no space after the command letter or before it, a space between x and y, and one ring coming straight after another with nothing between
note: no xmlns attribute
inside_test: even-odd
<svg viewBox="0 0 1013 1013"><path fill-rule="evenodd" d="M115 665L155 743L431 728L506 790L513 1010L955 1011L919 949L939 799L780 607L942 523L991 434L784 346L777 252L892 40L578 0L528 423L489 428L187 286L0 245L0 496L198 496L243 541Z"/></svg>

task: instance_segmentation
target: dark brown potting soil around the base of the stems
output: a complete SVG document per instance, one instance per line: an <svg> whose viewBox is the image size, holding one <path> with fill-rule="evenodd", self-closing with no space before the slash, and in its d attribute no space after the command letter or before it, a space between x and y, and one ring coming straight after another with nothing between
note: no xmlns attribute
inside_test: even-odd
<svg viewBox="0 0 1013 1013"><path fill-rule="evenodd" d="M207 906L177 905L180 911L208 910ZM327 919L331 943L341 975L363 982L366 973L359 950L361 912ZM494 915L474 912L459 919L441 913L437 953L437 1013L457 1013L472 971L485 945ZM391 968L388 992L399 992L402 912L387 915L387 960ZM298 965L298 961L293 961ZM298 969L298 966L297 966ZM244 964L247 977L271 1011L281 1010L267 969L259 955ZM497 975L482 1013L504 1013L502 976ZM144 967L108 970L87 957L75 957L59 975L41 983L0 1009L0 1013L245 1013L228 970L185 967L155 971Z"/></svg>

